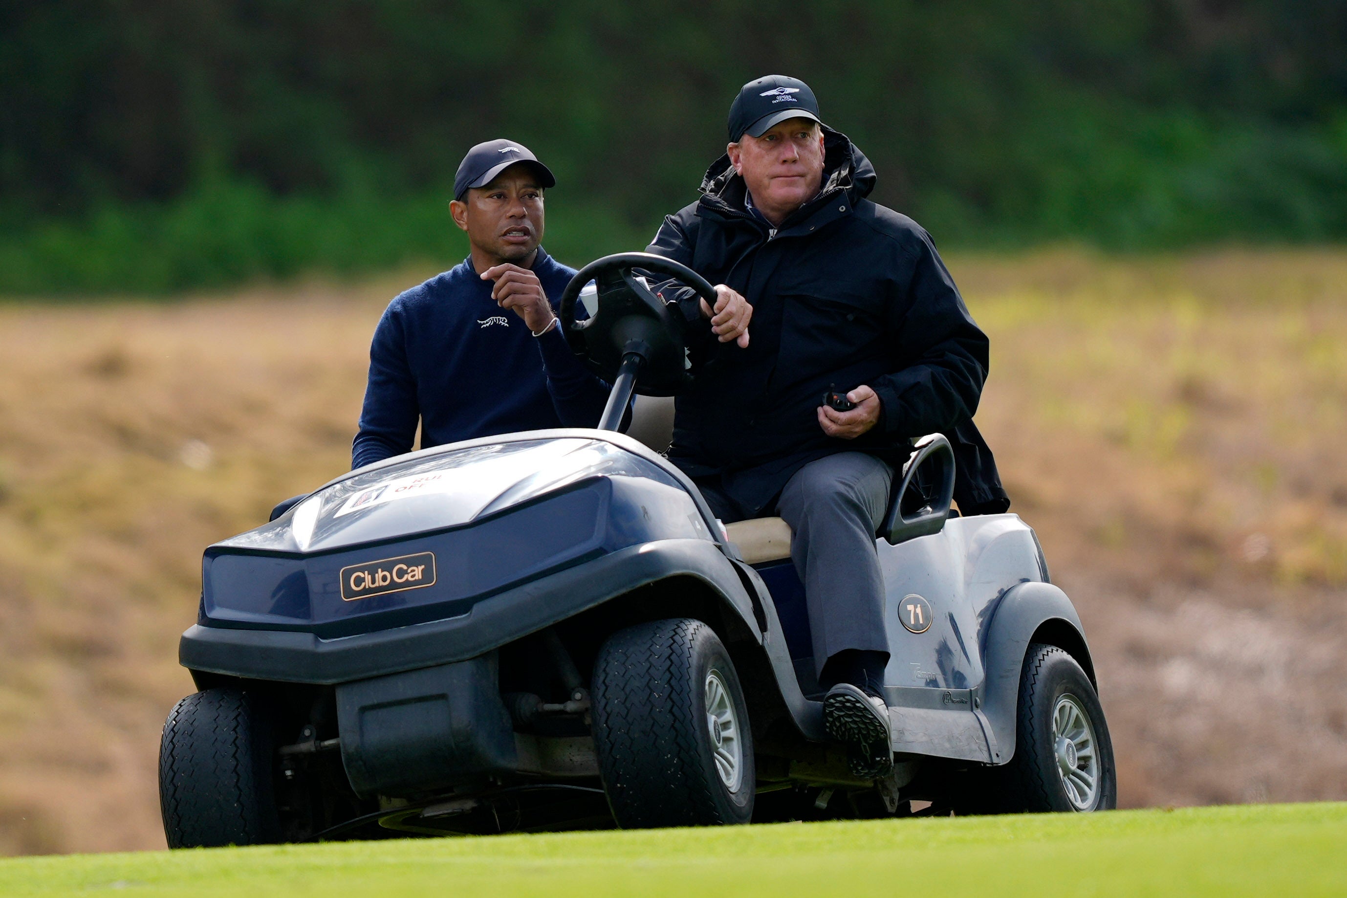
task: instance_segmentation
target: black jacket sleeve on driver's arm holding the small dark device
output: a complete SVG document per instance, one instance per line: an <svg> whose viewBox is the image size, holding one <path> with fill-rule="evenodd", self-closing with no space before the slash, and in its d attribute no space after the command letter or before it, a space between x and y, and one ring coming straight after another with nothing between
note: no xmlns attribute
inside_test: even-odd
<svg viewBox="0 0 1347 898"><path fill-rule="evenodd" d="M907 295L893 302L902 310L893 322L901 368L872 384L884 409L882 432L952 434L978 408L987 377L987 337L924 232L909 264Z"/></svg>

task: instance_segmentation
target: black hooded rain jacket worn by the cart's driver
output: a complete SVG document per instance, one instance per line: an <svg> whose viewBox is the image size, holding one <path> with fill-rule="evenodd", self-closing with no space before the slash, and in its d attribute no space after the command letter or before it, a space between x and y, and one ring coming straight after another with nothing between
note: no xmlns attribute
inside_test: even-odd
<svg viewBox="0 0 1347 898"><path fill-rule="evenodd" d="M744 179L722 156L702 198L668 215L649 246L753 306L741 349L717 341L691 291L663 288L688 320L695 373L676 399L669 460L718 477L744 517L766 513L811 460L867 451L901 463L909 438L932 432L955 447L964 513L1009 506L973 425L987 338L931 236L866 199L874 182L861 151L826 128L822 190L773 230L748 210ZM824 392L861 384L880 396L880 423L854 440L827 436L815 412Z"/></svg>

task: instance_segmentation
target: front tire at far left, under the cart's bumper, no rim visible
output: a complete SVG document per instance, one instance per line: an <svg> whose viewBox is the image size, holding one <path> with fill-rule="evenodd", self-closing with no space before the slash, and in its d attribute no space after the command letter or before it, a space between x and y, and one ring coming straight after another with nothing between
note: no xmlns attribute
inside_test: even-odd
<svg viewBox="0 0 1347 898"><path fill-rule="evenodd" d="M206 689L179 701L159 743L159 806L170 848L280 840L272 730L255 696Z"/></svg>

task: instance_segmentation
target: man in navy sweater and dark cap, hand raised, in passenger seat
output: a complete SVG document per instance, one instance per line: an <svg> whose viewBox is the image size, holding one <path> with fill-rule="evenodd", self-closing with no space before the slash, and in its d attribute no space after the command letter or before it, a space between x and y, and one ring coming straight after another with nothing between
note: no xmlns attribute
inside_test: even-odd
<svg viewBox="0 0 1347 898"><path fill-rule="evenodd" d="M555 311L575 269L539 245L555 183L520 143L467 151L450 213L471 252L380 319L352 467L409 452L418 421L422 448L598 423L607 385L571 354Z"/></svg>

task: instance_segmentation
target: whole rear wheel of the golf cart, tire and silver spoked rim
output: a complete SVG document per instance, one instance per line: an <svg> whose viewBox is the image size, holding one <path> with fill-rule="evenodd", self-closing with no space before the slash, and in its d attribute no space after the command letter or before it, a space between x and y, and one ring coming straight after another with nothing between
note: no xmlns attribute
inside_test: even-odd
<svg viewBox="0 0 1347 898"><path fill-rule="evenodd" d="M1118 804L1103 708L1076 660L1030 645L1020 673L1014 757L1001 769L1006 809L1110 810Z"/></svg>

